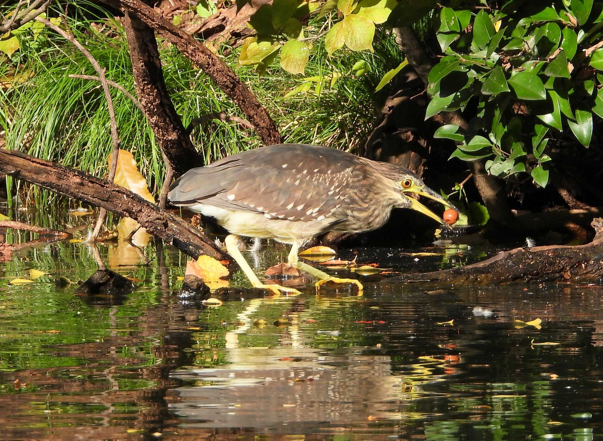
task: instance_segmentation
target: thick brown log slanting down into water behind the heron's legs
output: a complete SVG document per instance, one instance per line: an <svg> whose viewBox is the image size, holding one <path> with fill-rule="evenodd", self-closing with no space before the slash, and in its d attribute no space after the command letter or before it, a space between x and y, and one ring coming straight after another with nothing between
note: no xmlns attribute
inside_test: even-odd
<svg viewBox="0 0 603 441"><path fill-rule="evenodd" d="M0 171L46 189L131 217L151 234L192 257L207 254L224 259L215 243L197 228L160 210L135 193L80 170L63 167L21 152L0 149Z"/></svg>

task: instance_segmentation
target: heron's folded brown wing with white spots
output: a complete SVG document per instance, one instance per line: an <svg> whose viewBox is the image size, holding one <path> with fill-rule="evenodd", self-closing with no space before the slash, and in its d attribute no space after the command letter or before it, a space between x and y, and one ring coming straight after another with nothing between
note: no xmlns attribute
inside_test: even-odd
<svg viewBox="0 0 603 441"><path fill-rule="evenodd" d="M358 158L320 146L277 145L189 170L169 193L175 205L199 202L288 220L322 220L344 203Z"/></svg>

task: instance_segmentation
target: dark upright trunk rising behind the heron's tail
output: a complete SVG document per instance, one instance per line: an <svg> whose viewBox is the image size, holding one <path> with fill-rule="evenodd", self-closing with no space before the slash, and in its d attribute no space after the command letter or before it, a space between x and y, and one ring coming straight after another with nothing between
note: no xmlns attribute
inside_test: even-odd
<svg viewBox="0 0 603 441"><path fill-rule="evenodd" d="M133 13L125 13L125 35L128 39L136 95L155 139L177 175L193 167L203 166L201 155L176 113L163 80L155 32Z"/></svg>

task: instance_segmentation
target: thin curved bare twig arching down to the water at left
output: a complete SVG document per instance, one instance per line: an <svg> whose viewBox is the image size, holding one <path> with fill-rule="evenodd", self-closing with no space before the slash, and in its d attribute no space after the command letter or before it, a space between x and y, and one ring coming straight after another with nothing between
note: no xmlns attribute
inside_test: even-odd
<svg viewBox="0 0 603 441"><path fill-rule="evenodd" d="M115 172L117 170L117 160L119 155L119 133L117 130L117 120L115 119L115 110L113 109L113 99L111 98L111 92L109 90L109 83L107 83L107 78L105 77L105 71L100 66L100 64L98 64L98 61L95 60L92 54L90 54L90 52L87 51L87 49L84 48L84 46L82 46L81 43L75 39L75 36L71 32L71 30L69 30L69 33L66 33L64 30L52 24L46 19L36 17L36 20L38 20L40 23L44 23L47 27L51 28L58 34L61 34L63 38L73 43L75 47L78 48L82 54L84 54L88 61L90 61L90 64L92 64L92 67L94 67L94 70L96 70L96 73L98 73L99 81L103 85L103 90L105 92L107 107L109 107L109 118L111 120L111 140L113 143L113 151L111 153L111 167L109 169L109 177L107 177L107 179L110 182L113 182L113 179L115 179ZM107 210L105 208L101 208L99 210L98 219L96 219L96 225L94 227L94 231L92 231L92 237L90 237L90 240L96 240L98 234L101 232L101 228L103 227L103 223L105 221L106 216Z"/></svg>

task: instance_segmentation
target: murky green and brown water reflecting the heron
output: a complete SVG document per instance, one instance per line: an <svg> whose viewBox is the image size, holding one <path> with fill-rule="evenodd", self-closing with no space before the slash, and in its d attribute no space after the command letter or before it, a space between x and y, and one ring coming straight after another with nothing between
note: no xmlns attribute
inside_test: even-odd
<svg viewBox="0 0 603 441"><path fill-rule="evenodd" d="M262 250L259 271L286 251ZM387 271L493 252L356 251ZM438 287L371 275L360 276L361 297L307 287L204 307L178 297L186 258L174 249L99 252L136 279L133 293L55 286L96 271L81 243L41 243L0 263L1 439L603 439L599 287L426 293ZM8 284L32 268L51 274ZM244 284L241 274L230 283ZM514 322L537 318L541 329Z"/></svg>

